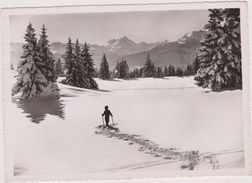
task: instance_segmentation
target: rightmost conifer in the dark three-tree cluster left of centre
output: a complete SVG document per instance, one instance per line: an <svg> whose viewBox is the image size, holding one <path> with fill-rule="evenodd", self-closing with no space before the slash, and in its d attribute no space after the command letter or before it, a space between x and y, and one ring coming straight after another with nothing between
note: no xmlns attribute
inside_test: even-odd
<svg viewBox="0 0 252 183"><path fill-rule="evenodd" d="M89 89L98 89L98 84L93 79L95 74L94 63L91 57L92 55L89 53L89 46L85 42L83 49L81 51L81 57L83 59L83 67L86 79L88 81Z"/></svg>

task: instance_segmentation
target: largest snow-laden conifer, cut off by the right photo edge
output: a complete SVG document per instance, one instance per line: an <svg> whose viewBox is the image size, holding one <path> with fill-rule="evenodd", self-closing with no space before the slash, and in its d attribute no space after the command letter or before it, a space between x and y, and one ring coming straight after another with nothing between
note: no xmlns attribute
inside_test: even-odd
<svg viewBox="0 0 252 183"><path fill-rule="evenodd" d="M241 87L240 10L209 11L207 33L196 57L200 68L195 80L213 90Z"/></svg>

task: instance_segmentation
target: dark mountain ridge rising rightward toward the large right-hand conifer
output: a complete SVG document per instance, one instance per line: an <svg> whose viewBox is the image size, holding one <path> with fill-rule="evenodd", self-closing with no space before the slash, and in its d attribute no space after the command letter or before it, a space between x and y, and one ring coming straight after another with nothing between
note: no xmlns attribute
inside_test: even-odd
<svg viewBox="0 0 252 183"><path fill-rule="evenodd" d="M151 60L157 66L172 64L175 67L180 66L185 69L188 64L193 62L204 33L204 31L193 31L176 41L160 43L151 50L127 55L125 59L131 67L143 65L146 55L149 53Z"/></svg>

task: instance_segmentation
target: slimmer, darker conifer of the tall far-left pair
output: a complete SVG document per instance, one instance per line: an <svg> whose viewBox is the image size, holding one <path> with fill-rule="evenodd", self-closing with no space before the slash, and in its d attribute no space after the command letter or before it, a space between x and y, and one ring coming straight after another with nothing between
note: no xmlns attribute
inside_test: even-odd
<svg viewBox="0 0 252 183"><path fill-rule="evenodd" d="M43 25L40 39L38 40L37 48L39 52L39 59L36 62L38 69L43 73L48 82L55 83L57 76L55 73L54 59L50 51L48 36L46 35L46 28Z"/></svg>

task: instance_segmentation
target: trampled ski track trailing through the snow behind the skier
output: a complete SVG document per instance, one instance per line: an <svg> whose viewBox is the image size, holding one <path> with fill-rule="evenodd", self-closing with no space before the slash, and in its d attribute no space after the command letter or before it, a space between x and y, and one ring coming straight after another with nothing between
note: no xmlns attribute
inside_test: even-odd
<svg viewBox="0 0 252 183"><path fill-rule="evenodd" d="M180 166L181 169L197 169L197 167L201 164L208 164L212 169L219 169L219 161L216 158L216 155L222 154L215 153L207 155L200 154L198 151L187 151L182 152L175 148L162 148L155 142L152 142L148 139L144 139L139 135L131 135L122 133L119 130L108 129L102 125L96 127L95 134L97 135L104 135L108 138L117 138L123 141L130 142L129 145L137 144L140 147L138 148L139 151L150 154L156 158L162 158L162 161L154 161L154 162L147 162L147 163L140 163L140 164L132 164L129 166L122 166L111 170L137 170L147 167L153 167L158 165L164 165L168 163L174 163L178 161L182 161L182 165ZM225 153L230 153L230 151L224 151ZM231 152L236 153L237 151ZM240 151L238 151L240 152ZM167 160L168 159L168 160ZM207 161L206 161L207 160ZM186 165L189 164L189 165ZM202 166L202 165L201 165ZM184 167L184 168L182 168Z"/></svg>

